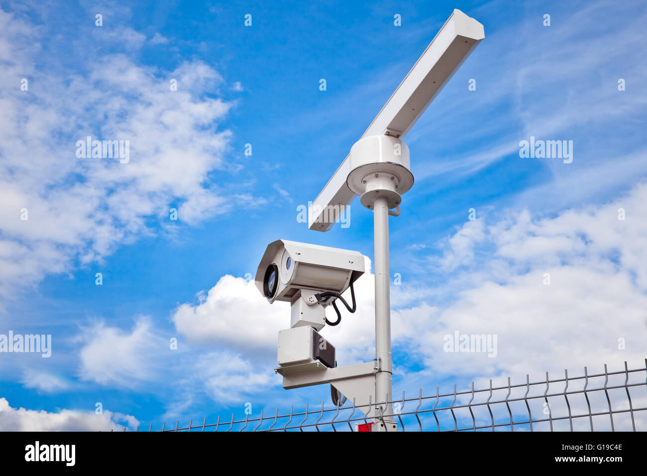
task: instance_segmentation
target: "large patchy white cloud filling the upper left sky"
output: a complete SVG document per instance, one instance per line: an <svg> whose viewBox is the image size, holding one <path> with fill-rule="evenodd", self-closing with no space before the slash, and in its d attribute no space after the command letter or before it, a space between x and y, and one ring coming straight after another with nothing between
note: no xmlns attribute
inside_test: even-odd
<svg viewBox="0 0 647 476"><path fill-rule="evenodd" d="M217 71L199 61L160 71L123 54L80 58L83 76L40 71L41 40L41 30L0 10L3 297L154 233L171 207L190 224L229 209L208 178L225 166L231 137L220 124L232 103L214 97L224 84ZM129 162L76 157L87 136L129 141Z"/></svg>

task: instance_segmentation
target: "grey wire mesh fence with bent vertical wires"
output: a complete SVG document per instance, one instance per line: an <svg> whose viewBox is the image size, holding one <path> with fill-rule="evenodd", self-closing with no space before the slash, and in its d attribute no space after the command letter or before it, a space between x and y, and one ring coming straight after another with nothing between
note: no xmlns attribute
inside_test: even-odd
<svg viewBox="0 0 647 476"><path fill-rule="evenodd" d="M291 407L289 413L279 409L258 416L246 414L236 419L217 417L201 424L193 420L181 425L179 420L168 427L148 431L361 431L359 425L373 420L371 409L380 414L376 424L393 420L397 431L645 431L647 429L647 359L642 368L589 374L587 367L580 376L551 378L523 383L489 385L479 389L472 382L468 390L457 391L456 385L449 393L423 395L419 389L415 396L402 392L402 398L388 398L393 416L385 416L388 405L377 402L326 407L325 402L313 407L305 405L299 411ZM393 427L391 427L393 428ZM124 431L126 429L124 428ZM137 427L140 431L140 427ZM391 430L393 431L393 430Z"/></svg>

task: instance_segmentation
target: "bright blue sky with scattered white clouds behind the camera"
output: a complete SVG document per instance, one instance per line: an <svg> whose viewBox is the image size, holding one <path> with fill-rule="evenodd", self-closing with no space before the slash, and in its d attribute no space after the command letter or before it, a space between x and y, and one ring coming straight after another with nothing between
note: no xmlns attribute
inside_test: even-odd
<svg viewBox="0 0 647 476"><path fill-rule="evenodd" d="M642 365L644 3L0 8L0 334L52 335L47 359L0 354L0 429L134 428L327 400L323 387L281 389L272 368L289 309L245 275L278 238L372 258L358 201L350 227L325 234L297 207L454 8L486 38L405 139L415 185L390 219L394 391ZM129 163L77 158L87 135L129 140ZM573 141L573 162L520 157L531 136ZM373 358L371 279L358 283L360 312L324 331L340 365ZM455 330L498 335L498 356L444 352Z"/></svg>

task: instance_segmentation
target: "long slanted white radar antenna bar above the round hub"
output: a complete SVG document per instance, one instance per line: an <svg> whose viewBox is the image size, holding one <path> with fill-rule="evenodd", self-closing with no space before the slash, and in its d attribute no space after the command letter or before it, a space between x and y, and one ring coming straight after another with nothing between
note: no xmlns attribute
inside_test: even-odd
<svg viewBox="0 0 647 476"><path fill-rule="evenodd" d="M461 10L454 10L362 138L404 137L483 38L481 23ZM346 183L350 172L349 157L346 157L309 209L311 230L328 231L337 220L340 207L353 201L355 194Z"/></svg>

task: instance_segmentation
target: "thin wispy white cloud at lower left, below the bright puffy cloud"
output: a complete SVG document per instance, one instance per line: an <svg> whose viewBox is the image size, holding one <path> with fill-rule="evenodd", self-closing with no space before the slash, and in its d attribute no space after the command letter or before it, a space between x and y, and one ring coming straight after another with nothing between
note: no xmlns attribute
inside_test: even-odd
<svg viewBox="0 0 647 476"><path fill-rule="evenodd" d="M238 331L243 341L244 331ZM137 319L131 330L96 323L75 340L83 344L78 370L82 380L159 395L166 402L163 418L203 405L205 396L215 402L239 403L278 383L272 380L272 365L259 365L262 351L245 352L241 345L205 352L182 339L171 348L170 338L146 317Z"/></svg>

